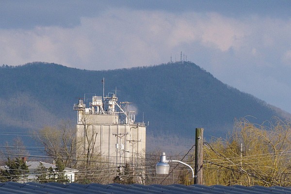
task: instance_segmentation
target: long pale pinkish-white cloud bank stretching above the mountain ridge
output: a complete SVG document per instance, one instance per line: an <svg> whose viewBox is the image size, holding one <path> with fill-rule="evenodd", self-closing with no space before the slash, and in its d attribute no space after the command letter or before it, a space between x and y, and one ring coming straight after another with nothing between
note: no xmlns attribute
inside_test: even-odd
<svg viewBox="0 0 291 194"><path fill-rule="evenodd" d="M222 54L231 49L238 55L244 49L255 54L261 48L272 50L268 46L274 47L278 41L276 31L259 31L257 26L261 23L258 18L242 21L217 13L174 15L111 9L98 17L83 17L81 25L75 28L1 31L0 55L2 63L9 65L46 61L112 69L167 62L170 53L184 50L185 45L216 49ZM269 19L265 23L270 29L272 25L280 27ZM191 50L184 51L191 60Z"/></svg>

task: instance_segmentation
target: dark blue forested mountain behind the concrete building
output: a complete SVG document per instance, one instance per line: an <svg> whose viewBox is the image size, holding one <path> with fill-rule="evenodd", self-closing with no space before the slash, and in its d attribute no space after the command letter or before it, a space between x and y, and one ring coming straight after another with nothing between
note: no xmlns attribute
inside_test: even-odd
<svg viewBox="0 0 291 194"><path fill-rule="evenodd" d="M105 94L116 88L119 101L133 103L136 120L144 117L149 122L149 142L165 142L160 134L172 142L193 139L195 128L204 128L206 138L225 136L234 118L247 115L255 123L273 116L290 118L289 113L222 83L190 62L107 71L31 63L0 67L0 131L37 130L62 119L75 123L73 104L85 93L102 96L102 78Z"/></svg>

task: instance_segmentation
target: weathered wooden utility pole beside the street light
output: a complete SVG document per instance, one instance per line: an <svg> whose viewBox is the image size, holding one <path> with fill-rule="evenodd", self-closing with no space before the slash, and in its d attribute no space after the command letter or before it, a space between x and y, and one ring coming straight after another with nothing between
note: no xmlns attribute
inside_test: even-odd
<svg viewBox="0 0 291 194"><path fill-rule="evenodd" d="M203 184L203 128L196 128L195 133L195 170L194 184Z"/></svg>

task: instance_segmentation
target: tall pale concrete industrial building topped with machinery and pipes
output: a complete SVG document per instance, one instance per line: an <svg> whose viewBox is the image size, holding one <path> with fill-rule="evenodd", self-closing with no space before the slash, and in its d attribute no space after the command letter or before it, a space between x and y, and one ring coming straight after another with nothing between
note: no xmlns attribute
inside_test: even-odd
<svg viewBox="0 0 291 194"><path fill-rule="evenodd" d="M88 96L88 95L87 95ZM91 95L74 104L77 118L77 157L100 154L122 169L126 163L138 165L145 160L146 125L135 122L129 102L117 102L116 93L104 97Z"/></svg>

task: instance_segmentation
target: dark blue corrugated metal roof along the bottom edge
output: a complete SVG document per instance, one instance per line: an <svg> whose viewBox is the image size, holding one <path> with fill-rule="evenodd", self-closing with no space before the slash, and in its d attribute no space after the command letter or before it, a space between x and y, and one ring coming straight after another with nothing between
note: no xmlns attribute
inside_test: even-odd
<svg viewBox="0 0 291 194"><path fill-rule="evenodd" d="M0 194L291 194L291 187L204 185L122 185L97 183L0 183Z"/></svg>

